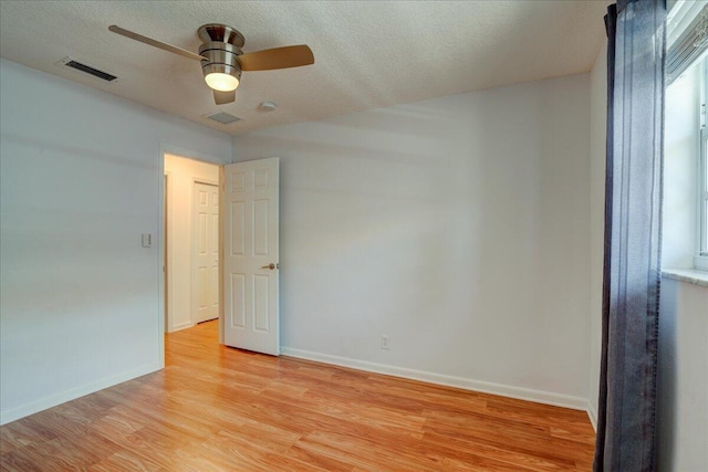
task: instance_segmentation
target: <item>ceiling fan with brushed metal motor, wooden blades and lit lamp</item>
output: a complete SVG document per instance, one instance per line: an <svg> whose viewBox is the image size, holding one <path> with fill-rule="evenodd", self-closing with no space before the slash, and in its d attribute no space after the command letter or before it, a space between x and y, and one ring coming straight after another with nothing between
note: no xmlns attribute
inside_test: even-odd
<svg viewBox="0 0 708 472"><path fill-rule="evenodd" d="M275 69L300 67L314 64L312 50L305 44L273 48L243 54L243 35L226 24L209 23L199 27L197 36L202 41L199 54L187 51L115 24L108 27L114 33L135 41L179 54L201 62L201 71L207 85L214 90L217 105L236 101L242 71L271 71Z"/></svg>

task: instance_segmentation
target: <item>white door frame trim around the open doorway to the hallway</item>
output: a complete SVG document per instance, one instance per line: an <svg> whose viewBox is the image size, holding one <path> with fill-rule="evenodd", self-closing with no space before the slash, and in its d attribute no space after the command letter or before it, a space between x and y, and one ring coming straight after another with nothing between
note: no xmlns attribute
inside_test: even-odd
<svg viewBox="0 0 708 472"><path fill-rule="evenodd" d="M157 225L157 279L158 279L158 296L157 296L157 358L160 368L165 368L165 326L167 319L167 312L165 306L165 270L166 270L166 241L165 241L165 155L171 154L179 157L186 157L188 159L200 160L202 162L214 164L219 166L219 172L222 171L225 164L230 164L231 156L226 158L218 158L214 155L200 153L198 150L189 149L183 146L173 145L169 143L160 143L159 150L157 153L157 197L158 197L158 225ZM217 185L219 185L217 182ZM219 192L221 187L219 186ZM219 239L219 250L223 242ZM221 325L223 324L223 310L219 306L219 343L223 344L223 333L221 332Z"/></svg>

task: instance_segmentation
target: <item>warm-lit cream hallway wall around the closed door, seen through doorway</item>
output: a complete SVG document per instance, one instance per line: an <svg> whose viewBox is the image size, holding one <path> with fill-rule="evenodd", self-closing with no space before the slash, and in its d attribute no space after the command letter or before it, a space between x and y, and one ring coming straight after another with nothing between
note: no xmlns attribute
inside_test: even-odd
<svg viewBox="0 0 708 472"><path fill-rule="evenodd" d="M167 175L167 331L194 326L191 319L191 235L195 182L219 185L219 166L165 155Z"/></svg>

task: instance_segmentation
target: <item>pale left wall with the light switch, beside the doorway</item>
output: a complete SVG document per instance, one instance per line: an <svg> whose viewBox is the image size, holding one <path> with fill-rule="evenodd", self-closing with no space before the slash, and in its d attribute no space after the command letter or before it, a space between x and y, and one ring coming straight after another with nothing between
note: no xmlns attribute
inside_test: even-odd
<svg viewBox="0 0 708 472"><path fill-rule="evenodd" d="M160 148L230 160L231 139L4 60L0 102L8 422L160 367Z"/></svg>

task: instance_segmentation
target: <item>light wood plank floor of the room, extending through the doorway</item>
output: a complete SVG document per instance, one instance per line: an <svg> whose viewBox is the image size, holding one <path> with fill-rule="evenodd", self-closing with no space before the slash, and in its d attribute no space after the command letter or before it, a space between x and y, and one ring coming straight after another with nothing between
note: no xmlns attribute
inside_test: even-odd
<svg viewBox="0 0 708 472"><path fill-rule="evenodd" d="M590 470L585 412L167 336L164 370L0 428L8 471Z"/></svg>

